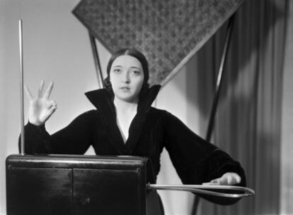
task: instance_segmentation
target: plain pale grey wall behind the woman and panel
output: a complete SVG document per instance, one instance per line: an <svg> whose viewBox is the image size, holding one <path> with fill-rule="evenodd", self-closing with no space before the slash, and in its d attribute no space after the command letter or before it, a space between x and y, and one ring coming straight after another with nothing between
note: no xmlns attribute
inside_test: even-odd
<svg viewBox="0 0 293 215"><path fill-rule="evenodd" d="M40 80L54 80L52 99L58 109L47 122L49 133L63 128L80 113L93 109L84 92L98 87L88 32L71 13L77 0L1 0L0 1L0 214L6 214L5 159L18 153L20 133L20 85L18 20L23 20L24 82L33 94ZM98 43L102 69L110 53ZM193 60L190 63L194 63ZM195 100L187 94L195 87L186 81L195 71L183 70L164 87L155 106L178 116L195 132L200 129ZM47 85L46 85L47 86ZM25 122L28 99L25 97ZM198 133L200 135L200 133ZM89 149L88 154L93 154ZM168 153L161 156L158 183L180 183ZM193 195L185 192L160 192L166 214L188 214Z"/></svg>

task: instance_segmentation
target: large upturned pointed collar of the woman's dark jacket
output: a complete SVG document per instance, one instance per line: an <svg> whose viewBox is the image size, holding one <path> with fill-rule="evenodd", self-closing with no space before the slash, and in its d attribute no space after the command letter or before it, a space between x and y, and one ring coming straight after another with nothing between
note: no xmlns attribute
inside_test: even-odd
<svg viewBox="0 0 293 215"><path fill-rule="evenodd" d="M160 88L160 85L150 87L144 93L144 96L139 99L137 115L130 125L129 137L126 143L123 142L120 130L117 127L115 106L113 104L113 98L108 91L100 89L86 92L86 97L88 97L90 102L96 106L96 109L103 115L110 142L120 154L131 155L134 152L137 140L142 131L142 126L146 120L146 113L149 112L151 104L154 102L154 99L156 99Z"/></svg>

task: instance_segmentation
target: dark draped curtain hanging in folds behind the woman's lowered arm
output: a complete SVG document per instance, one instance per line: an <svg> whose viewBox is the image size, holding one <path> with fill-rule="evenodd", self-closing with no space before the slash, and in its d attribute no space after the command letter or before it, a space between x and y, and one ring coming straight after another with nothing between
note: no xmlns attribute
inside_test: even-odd
<svg viewBox="0 0 293 215"><path fill-rule="evenodd" d="M212 142L241 162L255 197L230 207L201 199L197 214L280 214L282 74L286 30L293 25L288 19L290 4L246 0L236 13L224 68ZM208 118L225 35L226 25L196 56L203 120Z"/></svg>

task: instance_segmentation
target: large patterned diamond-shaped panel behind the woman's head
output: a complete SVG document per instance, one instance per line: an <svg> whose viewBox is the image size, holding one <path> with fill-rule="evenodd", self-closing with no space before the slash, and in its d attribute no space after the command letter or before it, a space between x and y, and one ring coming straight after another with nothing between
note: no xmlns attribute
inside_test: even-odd
<svg viewBox="0 0 293 215"><path fill-rule="evenodd" d="M134 47L166 84L243 0L82 0L74 15L111 52Z"/></svg>

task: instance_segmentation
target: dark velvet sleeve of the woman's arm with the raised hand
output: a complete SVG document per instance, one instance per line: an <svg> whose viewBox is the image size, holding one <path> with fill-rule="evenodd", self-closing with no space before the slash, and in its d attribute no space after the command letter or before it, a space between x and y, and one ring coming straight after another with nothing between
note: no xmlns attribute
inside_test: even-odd
<svg viewBox="0 0 293 215"><path fill-rule="evenodd" d="M47 133L45 125L29 122L25 125L25 154L84 154L90 145L91 111L52 135Z"/></svg>

